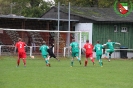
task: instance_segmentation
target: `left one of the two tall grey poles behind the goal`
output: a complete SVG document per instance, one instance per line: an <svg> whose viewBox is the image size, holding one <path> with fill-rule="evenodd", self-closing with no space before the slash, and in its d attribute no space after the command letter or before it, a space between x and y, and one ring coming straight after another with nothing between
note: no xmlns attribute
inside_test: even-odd
<svg viewBox="0 0 133 88"><path fill-rule="evenodd" d="M57 40L57 57L59 56L59 31L60 31L60 2L58 2L58 40Z"/></svg>

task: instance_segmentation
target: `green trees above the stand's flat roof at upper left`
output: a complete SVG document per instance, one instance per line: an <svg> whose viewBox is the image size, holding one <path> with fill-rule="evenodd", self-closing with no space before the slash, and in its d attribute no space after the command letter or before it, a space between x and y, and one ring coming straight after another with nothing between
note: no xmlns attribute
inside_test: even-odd
<svg viewBox="0 0 133 88"><path fill-rule="evenodd" d="M40 17L53 3L44 0L0 0L0 14L16 14L25 17Z"/></svg>

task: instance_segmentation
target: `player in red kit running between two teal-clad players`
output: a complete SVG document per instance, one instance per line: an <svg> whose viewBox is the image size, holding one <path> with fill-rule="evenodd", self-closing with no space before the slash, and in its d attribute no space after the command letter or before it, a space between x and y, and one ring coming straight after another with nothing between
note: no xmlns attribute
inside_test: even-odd
<svg viewBox="0 0 133 88"><path fill-rule="evenodd" d="M86 54L85 66L87 66L87 64L88 64L88 58L90 58L93 65L95 65L94 58L93 58L93 45L91 43L89 43L89 40L86 40L83 50L85 51L85 54Z"/></svg>

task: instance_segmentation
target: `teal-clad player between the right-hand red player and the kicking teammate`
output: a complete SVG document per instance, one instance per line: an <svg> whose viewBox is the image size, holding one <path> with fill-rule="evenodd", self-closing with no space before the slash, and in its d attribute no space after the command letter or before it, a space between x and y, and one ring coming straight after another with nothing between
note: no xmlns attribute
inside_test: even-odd
<svg viewBox="0 0 133 88"><path fill-rule="evenodd" d="M96 59L99 61L99 64L101 67L103 67L102 62L102 49L104 48L103 45L100 44L99 40L97 41L97 44L94 46L94 51L96 52Z"/></svg>

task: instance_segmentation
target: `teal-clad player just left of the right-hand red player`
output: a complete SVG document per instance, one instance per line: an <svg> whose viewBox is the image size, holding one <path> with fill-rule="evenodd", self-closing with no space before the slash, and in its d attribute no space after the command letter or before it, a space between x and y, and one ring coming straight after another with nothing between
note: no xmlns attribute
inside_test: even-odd
<svg viewBox="0 0 133 88"><path fill-rule="evenodd" d="M75 42L75 39L72 40L70 44L70 52L72 54L71 67L73 67L74 57L76 57L81 65L81 59L79 58L79 44Z"/></svg>

